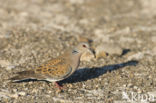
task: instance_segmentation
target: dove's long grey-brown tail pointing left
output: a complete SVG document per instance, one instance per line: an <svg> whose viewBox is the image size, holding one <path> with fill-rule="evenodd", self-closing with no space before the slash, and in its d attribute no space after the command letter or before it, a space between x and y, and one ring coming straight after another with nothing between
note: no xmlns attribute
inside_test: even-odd
<svg viewBox="0 0 156 103"><path fill-rule="evenodd" d="M28 71L17 72L17 75L10 78L9 80L13 82L20 82L28 79L38 79L38 78L39 76L33 70L28 70Z"/></svg>

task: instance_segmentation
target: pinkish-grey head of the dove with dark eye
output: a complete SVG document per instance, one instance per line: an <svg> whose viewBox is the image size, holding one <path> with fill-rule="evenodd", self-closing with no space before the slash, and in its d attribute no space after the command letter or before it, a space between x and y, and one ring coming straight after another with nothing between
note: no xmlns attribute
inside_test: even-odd
<svg viewBox="0 0 156 103"><path fill-rule="evenodd" d="M72 53L83 53L86 52L87 50L90 50L89 44L80 43L73 49Z"/></svg>

